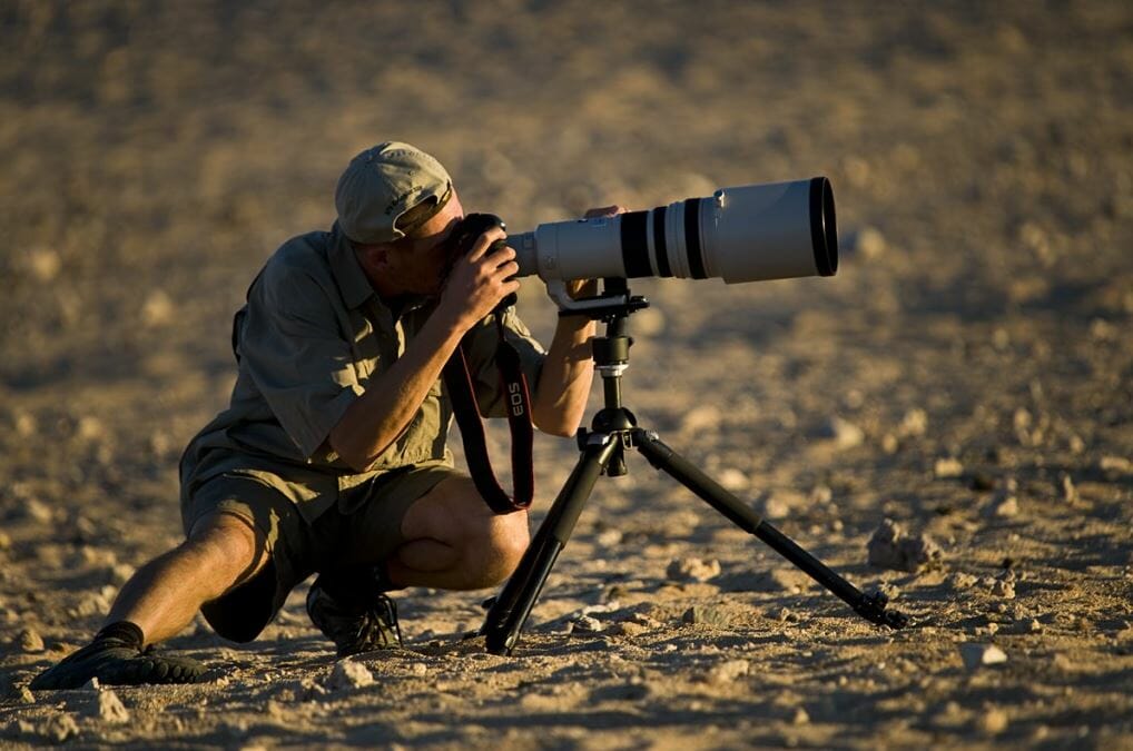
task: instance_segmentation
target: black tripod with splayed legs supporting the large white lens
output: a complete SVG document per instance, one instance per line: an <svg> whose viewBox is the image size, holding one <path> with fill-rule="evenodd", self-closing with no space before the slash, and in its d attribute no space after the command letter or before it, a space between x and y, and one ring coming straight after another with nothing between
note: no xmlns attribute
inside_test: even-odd
<svg viewBox="0 0 1133 751"><path fill-rule="evenodd" d="M589 432L585 428L579 430L578 442L582 455L531 539L516 573L488 609L480 629L480 633L487 638L488 651L510 655L514 649L527 616L543 590L559 553L566 546L598 476L625 475L625 449L631 447L637 449L650 464L692 490L740 529L761 539L815 581L841 597L863 618L891 629L908 625L906 615L886 609L888 600L885 595L866 595L860 591L799 547L790 537L760 519L748 504L662 443L656 433L638 427L633 413L622 407L622 374L629 367L632 343L625 333L625 324L630 314L649 304L642 297L630 297L624 280L606 280L606 293L600 299L608 302L591 306L586 314L606 324L606 335L594 340L593 355L595 369L603 379L605 407L595 415Z"/></svg>

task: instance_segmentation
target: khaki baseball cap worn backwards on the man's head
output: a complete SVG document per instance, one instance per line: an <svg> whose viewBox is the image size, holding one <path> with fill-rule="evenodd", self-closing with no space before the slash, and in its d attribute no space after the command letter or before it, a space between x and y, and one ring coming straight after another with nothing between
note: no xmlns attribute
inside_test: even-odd
<svg viewBox="0 0 1133 751"><path fill-rule="evenodd" d="M407 211L431 199L440 211L451 187L441 162L415 146L387 140L350 160L339 178L334 189L339 227L355 242L391 242L406 237L398 220Z"/></svg>

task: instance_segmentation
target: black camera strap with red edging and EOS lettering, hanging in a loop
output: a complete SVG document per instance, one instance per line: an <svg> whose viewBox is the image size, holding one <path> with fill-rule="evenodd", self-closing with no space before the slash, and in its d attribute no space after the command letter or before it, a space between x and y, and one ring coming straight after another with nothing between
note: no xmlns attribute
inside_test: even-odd
<svg viewBox="0 0 1133 751"><path fill-rule="evenodd" d="M531 505L535 497L535 470L533 467L531 442L531 398L527 389L527 378L520 366L519 352L505 339L503 316L495 315L496 332L500 344L496 348L495 360L500 370L500 387L508 409L508 428L511 432L511 478L514 484L513 496L500 486L492 471L488 458L488 446L484 433L484 417L476 402L476 391L472 376L468 370L468 358L465 355L465 342L449 358L444 366L444 385L452 401L452 412L460 426L460 435L465 442L465 458L468 471L480 497L497 514L520 511Z"/></svg>

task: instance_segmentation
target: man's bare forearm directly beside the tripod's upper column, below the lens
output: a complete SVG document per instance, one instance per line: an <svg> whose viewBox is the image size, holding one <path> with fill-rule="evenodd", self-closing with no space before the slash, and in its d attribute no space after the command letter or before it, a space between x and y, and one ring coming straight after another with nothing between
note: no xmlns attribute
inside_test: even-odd
<svg viewBox="0 0 1133 751"><path fill-rule="evenodd" d="M588 318L559 319L531 404L535 425L544 433L571 436L582 421L594 378L590 340L595 332Z"/></svg>

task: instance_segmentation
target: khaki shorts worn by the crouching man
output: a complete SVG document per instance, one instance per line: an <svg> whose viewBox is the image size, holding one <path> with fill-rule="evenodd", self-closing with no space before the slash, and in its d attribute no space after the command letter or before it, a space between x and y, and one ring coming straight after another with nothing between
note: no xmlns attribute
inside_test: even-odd
<svg viewBox="0 0 1133 751"><path fill-rule="evenodd" d="M216 633L252 641L264 630L296 586L313 573L350 571L390 558L406 541L401 521L415 501L441 480L460 477L442 463L404 467L378 475L340 504L307 521L276 488L249 475L228 472L196 488L181 509L186 536L215 513L239 517L259 532L271 555L256 575L201 608Z"/></svg>

